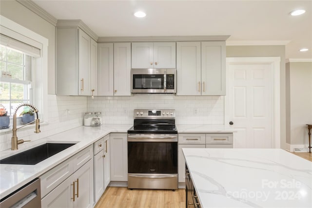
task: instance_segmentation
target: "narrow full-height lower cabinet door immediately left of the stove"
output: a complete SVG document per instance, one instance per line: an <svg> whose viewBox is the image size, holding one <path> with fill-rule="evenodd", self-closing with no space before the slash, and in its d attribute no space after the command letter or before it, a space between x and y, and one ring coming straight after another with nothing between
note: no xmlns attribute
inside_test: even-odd
<svg viewBox="0 0 312 208"><path fill-rule="evenodd" d="M127 133L111 133L111 181L128 181Z"/></svg>

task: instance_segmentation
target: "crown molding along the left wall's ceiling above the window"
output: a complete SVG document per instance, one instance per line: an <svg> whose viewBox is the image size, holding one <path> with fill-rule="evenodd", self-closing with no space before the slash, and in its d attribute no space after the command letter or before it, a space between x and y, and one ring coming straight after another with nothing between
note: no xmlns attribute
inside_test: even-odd
<svg viewBox="0 0 312 208"><path fill-rule="evenodd" d="M17 0L20 4L25 6L27 9L30 11L34 12L35 14L39 15L42 19L45 19L52 25L56 26L57 25L57 19L50 15L47 11L39 7L36 3L34 3L31 0Z"/></svg>

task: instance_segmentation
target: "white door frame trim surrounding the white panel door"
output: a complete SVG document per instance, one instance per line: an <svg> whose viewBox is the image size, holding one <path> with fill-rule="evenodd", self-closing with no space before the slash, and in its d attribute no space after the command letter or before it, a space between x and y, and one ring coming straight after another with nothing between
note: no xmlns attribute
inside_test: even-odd
<svg viewBox="0 0 312 208"><path fill-rule="evenodd" d="M280 57L227 57L226 58L226 92L230 92L230 65L234 64L270 64L272 70L272 145L280 148ZM224 96L224 126L230 128L230 99ZM234 138L235 140L235 138Z"/></svg>

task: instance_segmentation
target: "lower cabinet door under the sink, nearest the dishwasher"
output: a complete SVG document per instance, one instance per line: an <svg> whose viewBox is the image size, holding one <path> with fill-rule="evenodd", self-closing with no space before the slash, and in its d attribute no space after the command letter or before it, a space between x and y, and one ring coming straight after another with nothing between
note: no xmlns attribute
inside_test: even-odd
<svg viewBox="0 0 312 208"><path fill-rule="evenodd" d="M41 199L42 208L72 208L73 207L73 179L70 176L57 188L53 189Z"/></svg>

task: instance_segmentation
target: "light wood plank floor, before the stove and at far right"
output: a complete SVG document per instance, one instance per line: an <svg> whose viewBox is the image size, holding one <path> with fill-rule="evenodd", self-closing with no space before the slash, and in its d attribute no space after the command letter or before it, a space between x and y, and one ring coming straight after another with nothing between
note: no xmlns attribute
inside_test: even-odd
<svg viewBox="0 0 312 208"><path fill-rule="evenodd" d="M292 152L312 162L312 153ZM184 208L185 189L151 190L107 187L95 208Z"/></svg>

